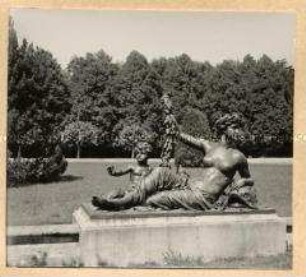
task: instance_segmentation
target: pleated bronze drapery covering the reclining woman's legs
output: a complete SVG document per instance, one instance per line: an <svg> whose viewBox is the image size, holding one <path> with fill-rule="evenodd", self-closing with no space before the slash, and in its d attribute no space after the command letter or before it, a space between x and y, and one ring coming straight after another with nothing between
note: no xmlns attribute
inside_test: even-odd
<svg viewBox="0 0 306 277"><path fill-rule="evenodd" d="M162 209L208 210L214 201L211 195L192 188L186 175L158 167L124 197L104 199L99 206L106 209L128 209L137 205L149 205Z"/></svg>

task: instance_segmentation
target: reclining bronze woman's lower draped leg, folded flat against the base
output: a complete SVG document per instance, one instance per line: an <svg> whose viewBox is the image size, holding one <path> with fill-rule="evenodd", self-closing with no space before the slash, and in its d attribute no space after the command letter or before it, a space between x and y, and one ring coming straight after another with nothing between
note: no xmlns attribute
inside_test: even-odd
<svg viewBox="0 0 306 277"><path fill-rule="evenodd" d="M164 210L209 210L212 207L212 203L200 191L190 189L159 192L149 197L146 205Z"/></svg>

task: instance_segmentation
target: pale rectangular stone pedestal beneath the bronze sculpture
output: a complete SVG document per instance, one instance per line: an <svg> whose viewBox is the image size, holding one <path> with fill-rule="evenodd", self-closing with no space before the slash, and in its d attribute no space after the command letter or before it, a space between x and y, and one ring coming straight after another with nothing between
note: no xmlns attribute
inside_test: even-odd
<svg viewBox="0 0 306 277"><path fill-rule="evenodd" d="M286 223L273 210L251 212L74 212L84 266L164 264L164 255L223 258L286 251Z"/></svg>

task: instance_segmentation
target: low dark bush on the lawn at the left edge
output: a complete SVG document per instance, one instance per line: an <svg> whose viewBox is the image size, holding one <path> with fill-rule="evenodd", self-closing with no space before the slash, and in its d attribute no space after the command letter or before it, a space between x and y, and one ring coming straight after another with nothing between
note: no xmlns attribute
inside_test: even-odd
<svg viewBox="0 0 306 277"><path fill-rule="evenodd" d="M56 181L67 169L60 148L49 158L16 158L7 162L7 186Z"/></svg>

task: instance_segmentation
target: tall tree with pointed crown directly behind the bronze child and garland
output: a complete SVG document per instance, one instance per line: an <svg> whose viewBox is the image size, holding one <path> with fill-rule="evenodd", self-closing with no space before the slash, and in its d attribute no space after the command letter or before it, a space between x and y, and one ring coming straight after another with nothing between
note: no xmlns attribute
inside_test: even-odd
<svg viewBox="0 0 306 277"><path fill-rule="evenodd" d="M130 53L110 87L112 103L119 115L114 128L115 137L120 137L124 125L145 126L153 133L154 148L158 148L157 134L161 131L163 116L160 78L142 54L137 51Z"/></svg>

